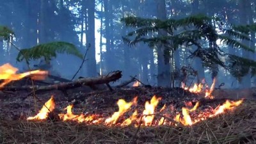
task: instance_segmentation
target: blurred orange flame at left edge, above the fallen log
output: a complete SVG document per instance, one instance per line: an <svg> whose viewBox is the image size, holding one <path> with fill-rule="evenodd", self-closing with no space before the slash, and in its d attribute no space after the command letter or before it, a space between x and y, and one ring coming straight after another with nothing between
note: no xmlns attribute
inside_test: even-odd
<svg viewBox="0 0 256 144"><path fill-rule="evenodd" d="M0 79L4 79L4 82L0 84L0 88L10 83L11 81L17 81L29 75L37 74L38 76L41 76L40 79L42 79L44 78L42 76L46 76L48 74L47 71L42 70L33 70L30 72L24 72L22 74L16 74L17 71L18 68L13 67L10 65L10 63L6 63L0 66ZM38 77L34 76L33 79L38 79Z"/></svg>

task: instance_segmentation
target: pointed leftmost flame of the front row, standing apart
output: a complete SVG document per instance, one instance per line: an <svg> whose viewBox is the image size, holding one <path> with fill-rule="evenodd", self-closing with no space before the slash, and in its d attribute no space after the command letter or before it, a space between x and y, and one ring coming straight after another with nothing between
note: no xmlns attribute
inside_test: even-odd
<svg viewBox="0 0 256 144"><path fill-rule="evenodd" d="M54 97L51 96L51 99L45 102L43 108L39 111L39 113L36 116L29 116L27 120L44 120L45 118L47 118L49 113L54 110L54 108Z"/></svg>

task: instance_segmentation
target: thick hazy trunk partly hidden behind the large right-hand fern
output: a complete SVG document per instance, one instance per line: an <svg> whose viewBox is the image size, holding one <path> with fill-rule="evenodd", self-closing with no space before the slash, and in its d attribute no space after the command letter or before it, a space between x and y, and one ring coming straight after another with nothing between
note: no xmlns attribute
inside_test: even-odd
<svg viewBox="0 0 256 144"><path fill-rule="evenodd" d="M157 18L166 19L166 4L165 0L157 1ZM163 30L159 31L159 35L167 35ZM164 45L159 44L157 47L157 85L170 87L170 52L166 51Z"/></svg>

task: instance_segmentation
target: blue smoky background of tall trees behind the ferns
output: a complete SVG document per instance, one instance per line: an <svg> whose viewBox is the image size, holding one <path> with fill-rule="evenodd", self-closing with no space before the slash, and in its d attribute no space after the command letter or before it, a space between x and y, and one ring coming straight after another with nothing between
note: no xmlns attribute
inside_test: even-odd
<svg viewBox="0 0 256 144"><path fill-rule="evenodd" d="M79 76L92 77L108 74L112 70L122 70L123 80L137 76L140 81L152 86L180 86L180 70L191 66L196 70L196 79L212 83L212 70L203 67L200 58L188 59L193 46L180 46L173 52L168 64L162 65L163 52L157 47L138 43L127 45L122 36L131 32L121 19L127 16L157 19L182 19L198 13L208 17L219 17L227 24L253 24L256 18L255 0L2 0L0 2L0 24L15 31L13 43L22 48L47 42L70 42L84 54L88 49L86 61ZM244 45L255 49L255 33ZM16 61L19 51L8 42L0 42L0 61L11 63L20 71L26 71L26 63ZM255 60L255 54L243 49L228 47L217 40L222 51ZM51 60L51 74L71 79L83 60L68 54L58 54ZM169 61L169 62L170 62ZM42 60L31 61L38 65ZM168 79L175 80L169 85L161 83L161 72L170 70ZM250 88L255 86L255 77L247 74L238 83L225 68L218 67L218 84L225 83L226 88ZM160 77L160 78L159 78ZM189 79L189 83L195 77ZM251 82L251 83L250 83Z"/></svg>

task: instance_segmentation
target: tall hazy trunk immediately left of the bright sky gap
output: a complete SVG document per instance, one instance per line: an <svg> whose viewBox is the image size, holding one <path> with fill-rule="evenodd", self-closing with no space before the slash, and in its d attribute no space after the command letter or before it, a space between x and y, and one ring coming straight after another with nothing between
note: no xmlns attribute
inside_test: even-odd
<svg viewBox="0 0 256 144"><path fill-rule="evenodd" d="M97 76L95 60L95 0L88 1L88 35L86 35L86 44L88 44L88 61L86 61L86 74L89 77Z"/></svg>

